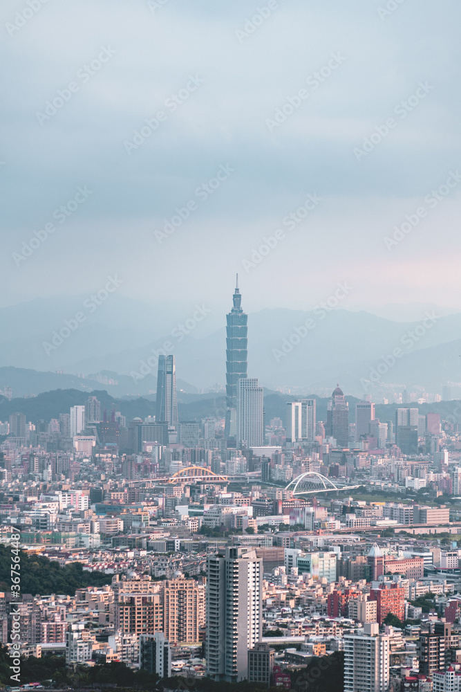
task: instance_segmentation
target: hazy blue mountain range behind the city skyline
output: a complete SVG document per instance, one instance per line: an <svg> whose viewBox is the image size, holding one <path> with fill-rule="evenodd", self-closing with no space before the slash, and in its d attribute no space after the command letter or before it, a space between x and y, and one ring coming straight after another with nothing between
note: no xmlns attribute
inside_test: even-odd
<svg viewBox="0 0 461 692"><path fill-rule="evenodd" d="M56 388L105 388L117 397L154 394L153 352L160 349L176 356L184 392L222 390L224 315L210 310L194 324L194 304L185 306L181 319L180 309L157 309L122 295L92 312L83 306L81 297L37 298L0 309L0 390L9 385L15 396ZM71 329L78 311L84 320ZM189 329L178 330L183 323ZM361 398L369 392L378 400L404 388L441 393L451 382L461 392L461 313L421 307L409 322L327 306L263 309L250 313L248 325L248 374L270 390L328 396L339 382L346 394Z"/></svg>

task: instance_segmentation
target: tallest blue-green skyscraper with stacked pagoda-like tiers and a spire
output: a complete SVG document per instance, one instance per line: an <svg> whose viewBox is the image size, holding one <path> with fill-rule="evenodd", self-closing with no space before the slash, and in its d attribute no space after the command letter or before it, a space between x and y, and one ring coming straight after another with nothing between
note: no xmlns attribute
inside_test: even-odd
<svg viewBox="0 0 461 692"><path fill-rule="evenodd" d="M237 435L237 383L247 376L248 316L241 307L242 296L238 290L238 274L232 310L226 316L226 420L225 438Z"/></svg>

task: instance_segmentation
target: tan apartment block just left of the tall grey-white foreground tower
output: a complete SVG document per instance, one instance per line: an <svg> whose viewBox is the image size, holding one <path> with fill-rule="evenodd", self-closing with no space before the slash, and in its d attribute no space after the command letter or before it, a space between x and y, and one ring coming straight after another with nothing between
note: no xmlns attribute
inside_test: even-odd
<svg viewBox="0 0 461 692"><path fill-rule="evenodd" d="M198 643L205 625L205 587L194 579L171 579L163 593L165 637L173 646Z"/></svg>

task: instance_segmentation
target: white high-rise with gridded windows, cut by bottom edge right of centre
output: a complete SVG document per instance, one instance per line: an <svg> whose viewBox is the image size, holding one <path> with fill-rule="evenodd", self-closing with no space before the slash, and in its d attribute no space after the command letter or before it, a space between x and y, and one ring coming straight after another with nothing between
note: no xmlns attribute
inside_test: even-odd
<svg viewBox="0 0 461 692"><path fill-rule="evenodd" d="M364 633L344 636L344 692L386 692L389 685L388 635L377 623L365 623Z"/></svg>

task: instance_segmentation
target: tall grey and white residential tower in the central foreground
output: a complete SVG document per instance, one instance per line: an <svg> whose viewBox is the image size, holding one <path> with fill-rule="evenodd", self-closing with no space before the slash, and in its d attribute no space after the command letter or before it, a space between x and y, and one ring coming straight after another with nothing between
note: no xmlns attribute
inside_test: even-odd
<svg viewBox="0 0 461 692"><path fill-rule="evenodd" d="M263 631L263 561L256 552L227 547L207 559L207 675L248 679L248 650Z"/></svg>

